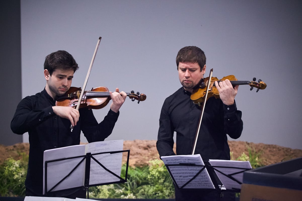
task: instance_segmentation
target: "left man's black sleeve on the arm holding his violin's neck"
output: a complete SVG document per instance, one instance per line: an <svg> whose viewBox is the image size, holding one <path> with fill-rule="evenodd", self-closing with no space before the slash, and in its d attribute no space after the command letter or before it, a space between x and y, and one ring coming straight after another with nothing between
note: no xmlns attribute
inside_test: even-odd
<svg viewBox="0 0 302 201"><path fill-rule="evenodd" d="M104 120L98 123L92 110L88 108L82 109L80 113L80 116L82 116L81 130L87 141L89 143L104 141L112 133L120 112L115 113L110 109Z"/></svg>

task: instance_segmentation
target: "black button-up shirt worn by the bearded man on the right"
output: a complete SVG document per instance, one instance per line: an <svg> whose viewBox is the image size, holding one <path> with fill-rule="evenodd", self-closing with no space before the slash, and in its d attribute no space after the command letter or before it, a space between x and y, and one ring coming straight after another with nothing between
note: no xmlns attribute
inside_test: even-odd
<svg viewBox="0 0 302 201"><path fill-rule="evenodd" d="M182 87L164 101L156 142L160 156L175 155L174 132L176 132L176 154L192 154L201 108L193 103L190 95L191 93L184 91ZM241 111L237 110L236 104L227 106L220 99L210 97L205 105L195 154L200 154L204 161L230 160L226 135L237 139L242 129Z"/></svg>

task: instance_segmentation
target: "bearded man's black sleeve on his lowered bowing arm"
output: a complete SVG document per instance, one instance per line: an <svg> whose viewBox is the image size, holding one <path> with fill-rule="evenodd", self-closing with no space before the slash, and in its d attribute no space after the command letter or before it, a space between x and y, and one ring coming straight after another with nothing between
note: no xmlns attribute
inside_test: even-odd
<svg viewBox="0 0 302 201"><path fill-rule="evenodd" d="M173 152L174 130L169 118L167 105L167 100L165 100L159 117L159 130L156 142L156 148L159 156L175 155L175 153Z"/></svg>

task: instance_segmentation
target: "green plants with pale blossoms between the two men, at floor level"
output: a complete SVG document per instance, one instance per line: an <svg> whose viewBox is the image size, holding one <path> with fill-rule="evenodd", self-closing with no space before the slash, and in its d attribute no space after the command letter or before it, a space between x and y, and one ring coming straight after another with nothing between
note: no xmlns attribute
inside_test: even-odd
<svg viewBox="0 0 302 201"><path fill-rule="evenodd" d="M148 198L165 199L174 197L172 179L161 160L149 161L149 166L129 167L127 183L117 183L90 188L92 198ZM121 177L125 177L126 165L122 166Z"/></svg>

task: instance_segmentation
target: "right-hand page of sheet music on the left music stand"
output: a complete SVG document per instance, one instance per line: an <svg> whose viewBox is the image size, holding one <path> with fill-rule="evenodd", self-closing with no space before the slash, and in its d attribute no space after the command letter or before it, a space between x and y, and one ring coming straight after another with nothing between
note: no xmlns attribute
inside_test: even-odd
<svg viewBox="0 0 302 201"><path fill-rule="evenodd" d="M123 140L108 140L102 142L91 142L86 145L86 153L101 153L101 152L113 152L113 151L122 151L123 150ZM114 153L114 154L99 154L93 155L102 165L105 166L108 170L114 172L120 176L120 171L122 168L122 157L123 153ZM120 181L119 178L115 177L110 172L102 168L97 162L91 159L90 163L90 178L89 184L99 184L99 183L108 183Z"/></svg>

